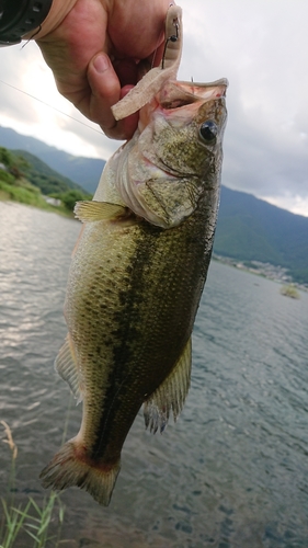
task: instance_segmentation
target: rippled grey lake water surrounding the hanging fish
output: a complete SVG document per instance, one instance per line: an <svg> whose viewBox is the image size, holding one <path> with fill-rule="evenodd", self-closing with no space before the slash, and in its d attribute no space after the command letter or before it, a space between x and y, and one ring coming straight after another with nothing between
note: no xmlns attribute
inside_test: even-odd
<svg viewBox="0 0 308 548"><path fill-rule="evenodd" d="M76 220L0 203L0 421L19 449L16 504L42 501L42 468L64 430L79 430L81 406L53 365L79 230ZM62 546L307 548L308 294L294 300L280 289L212 262L181 416L152 435L139 413L107 509L76 488L61 494ZM0 429L5 496L11 454Z"/></svg>

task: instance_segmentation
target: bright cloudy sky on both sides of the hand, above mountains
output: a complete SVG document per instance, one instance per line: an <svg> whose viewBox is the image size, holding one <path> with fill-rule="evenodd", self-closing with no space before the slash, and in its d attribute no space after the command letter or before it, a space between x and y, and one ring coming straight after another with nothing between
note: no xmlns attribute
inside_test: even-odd
<svg viewBox="0 0 308 548"><path fill-rule="evenodd" d="M308 217L307 0L178 4L179 79L229 80L223 184ZM0 48L0 125L76 156L107 160L121 145L59 95L35 43Z"/></svg>

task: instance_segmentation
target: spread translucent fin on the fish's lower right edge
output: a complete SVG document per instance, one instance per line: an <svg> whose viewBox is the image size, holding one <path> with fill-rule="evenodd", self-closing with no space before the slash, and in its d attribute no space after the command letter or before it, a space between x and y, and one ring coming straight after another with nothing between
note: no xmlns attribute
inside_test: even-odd
<svg viewBox="0 0 308 548"><path fill-rule="evenodd" d="M167 426L172 409L174 422L179 416L191 385L192 341L189 340L170 375L145 401L144 415L146 427L153 434Z"/></svg>

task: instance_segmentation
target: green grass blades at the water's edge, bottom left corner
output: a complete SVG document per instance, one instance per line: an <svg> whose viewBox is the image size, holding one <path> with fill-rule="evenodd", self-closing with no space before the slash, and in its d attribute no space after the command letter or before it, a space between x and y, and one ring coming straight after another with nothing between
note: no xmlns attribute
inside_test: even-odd
<svg viewBox="0 0 308 548"><path fill-rule="evenodd" d="M7 500L1 499L3 509L3 517L0 523L0 548L13 548L14 543L21 534L26 533L32 539L33 548L45 548L53 546L56 548L60 543L61 525L64 523L64 504L58 494L54 491L49 496L43 500L41 505L33 498L28 498L27 502L22 506L14 505L15 491L15 461L18 458L18 447L13 441L10 426L4 421L0 421L4 427L7 443L11 450L11 470L8 481ZM52 520L58 518L58 532L54 537L49 536L49 525ZM30 546L30 545L28 545Z"/></svg>

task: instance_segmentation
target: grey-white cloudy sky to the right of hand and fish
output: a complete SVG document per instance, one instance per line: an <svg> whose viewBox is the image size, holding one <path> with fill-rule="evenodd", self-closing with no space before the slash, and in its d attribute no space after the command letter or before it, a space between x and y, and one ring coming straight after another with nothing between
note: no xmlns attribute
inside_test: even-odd
<svg viewBox="0 0 308 548"><path fill-rule="evenodd" d="M204 71L217 78L215 52L230 81L223 182L308 215L308 38L300 22L308 5L217 0L207 8L204 33L190 27L186 46L192 66L198 46Z"/></svg>

